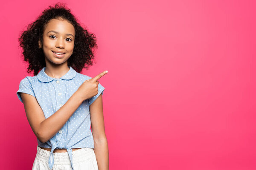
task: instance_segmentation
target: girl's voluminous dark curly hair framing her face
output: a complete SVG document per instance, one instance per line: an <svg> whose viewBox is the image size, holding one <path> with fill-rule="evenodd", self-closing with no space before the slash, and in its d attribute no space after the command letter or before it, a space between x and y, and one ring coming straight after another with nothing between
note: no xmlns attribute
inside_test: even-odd
<svg viewBox="0 0 256 170"><path fill-rule="evenodd" d="M64 4L56 3L55 7L49 6L33 23L27 26L27 30L23 31L19 37L20 46L23 48L23 56L26 62L29 62L27 72L34 71L34 76L46 67L44 52L42 48L38 48L38 41L42 42L44 28L49 20L64 19L69 21L75 28L75 45L72 56L67 60L67 65L71 66L77 72L81 72L83 68L93 65L94 51L98 48L96 37L83 28L70 13Z"/></svg>

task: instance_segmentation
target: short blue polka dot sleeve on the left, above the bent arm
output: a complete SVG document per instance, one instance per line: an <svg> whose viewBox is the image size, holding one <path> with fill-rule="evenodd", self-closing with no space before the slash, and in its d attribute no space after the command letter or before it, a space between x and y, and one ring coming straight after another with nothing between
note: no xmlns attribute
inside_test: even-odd
<svg viewBox="0 0 256 170"><path fill-rule="evenodd" d="M30 94L30 95L35 97L35 93L34 93L34 91L32 89L32 85L29 82L29 79L27 77L25 77L24 79L22 79L20 81L19 90L16 93L18 98L19 98L19 100L20 100L20 102L23 103L22 98L20 96L20 93Z"/></svg>

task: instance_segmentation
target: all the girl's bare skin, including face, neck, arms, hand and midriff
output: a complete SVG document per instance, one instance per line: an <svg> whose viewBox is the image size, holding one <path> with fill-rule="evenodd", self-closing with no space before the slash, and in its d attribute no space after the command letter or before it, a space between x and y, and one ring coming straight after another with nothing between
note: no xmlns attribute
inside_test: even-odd
<svg viewBox="0 0 256 170"><path fill-rule="evenodd" d="M52 32L55 31L55 32ZM58 33L56 33L58 32ZM74 48L75 28L67 20L52 19L46 25L43 40L38 41L39 48L43 48L46 62L45 73L49 77L60 78L70 68L67 66L67 59L72 57ZM55 57L52 51L64 51L62 58ZM54 136L61 127L72 116L81 103L98 93L98 79L107 74L104 71L90 80L86 80L70 99L52 116L45 119L44 113L36 98L26 93L21 93L23 104L29 125L41 142L47 142ZM87 95L85 95L87 94ZM94 152L98 162L99 170L109 169L108 142L105 135L102 95L100 95L90 106L90 119L94 139ZM50 148L41 147L50 151ZM79 150L81 148L74 148ZM66 149L55 149L55 152L67 152Z"/></svg>

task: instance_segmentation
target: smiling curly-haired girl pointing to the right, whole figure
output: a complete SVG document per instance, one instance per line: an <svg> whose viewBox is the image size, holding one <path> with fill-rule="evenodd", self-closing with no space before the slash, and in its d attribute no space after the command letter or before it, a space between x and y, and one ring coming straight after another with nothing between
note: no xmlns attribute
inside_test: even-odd
<svg viewBox="0 0 256 170"><path fill-rule="evenodd" d="M57 3L19 41L28 73L34 71L17 91L38 141L32 170L108 170L105 88L98 81L108 71L93 78L80 74L93 65L96 37Z"/></svg>

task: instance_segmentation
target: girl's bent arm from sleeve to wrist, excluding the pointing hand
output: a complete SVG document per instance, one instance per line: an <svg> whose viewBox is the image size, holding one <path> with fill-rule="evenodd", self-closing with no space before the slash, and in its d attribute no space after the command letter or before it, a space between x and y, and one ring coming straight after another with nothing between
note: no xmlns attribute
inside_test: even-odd
<svg viewBox="0 0 256 170"><path fill-rule="evenodd" d="M43 143L51 139L64 126L84 100L76 91L58 111L45 119L44 112L34 96L26 93L20 93L20 96L29 125L35 136Z"/></svg>

